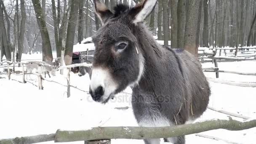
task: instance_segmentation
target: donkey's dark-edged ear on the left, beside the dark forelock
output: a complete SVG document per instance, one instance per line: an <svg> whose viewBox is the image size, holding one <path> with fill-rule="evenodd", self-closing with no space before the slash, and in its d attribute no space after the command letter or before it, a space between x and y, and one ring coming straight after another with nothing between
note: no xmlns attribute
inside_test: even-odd
<svg viewBox="0 0 256 144"><path fill-rule="evenodd" d="M101 2L101 0L93 0L94 1L94 8L95 13L101 20L101 24L104 24L107 19L113 15L111 11L107 8L107 6Z"/></svg>

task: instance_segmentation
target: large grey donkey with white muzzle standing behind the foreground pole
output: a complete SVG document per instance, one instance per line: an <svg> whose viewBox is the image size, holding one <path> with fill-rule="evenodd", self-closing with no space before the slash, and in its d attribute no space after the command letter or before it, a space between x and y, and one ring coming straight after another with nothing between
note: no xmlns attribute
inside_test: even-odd
<svg viewBox="0 0 256 144"><path fill-rule="evenodd" d="M112 13L94 0L102 27L92 37L95 44L90 94L107 103L131 87L132 107L139 126L181 125L206 110L210 88L197 58L185 50L160 46L144 19L157 0L144 0L133 8L118 4ZM185 144L184 136L165 138ZM159 144L160 139L144 139Z"/></svg>

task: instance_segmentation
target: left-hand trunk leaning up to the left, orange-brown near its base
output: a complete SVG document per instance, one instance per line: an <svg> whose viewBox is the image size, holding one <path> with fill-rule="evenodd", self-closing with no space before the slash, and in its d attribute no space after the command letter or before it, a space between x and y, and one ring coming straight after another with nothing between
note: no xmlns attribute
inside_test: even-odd
<svg viewBox="0 0 256 144"><path fill-rule="evenodd" d="M37 25L40 29L42 43L43 43L43 51L45 53L46 62L53 61L53 55L51 51L51 42L48 34L48 30L45 23L45 16L43 14L43 9L41 8L41 4L39 0L32 0L34 10L37 17Z"/></svg>

